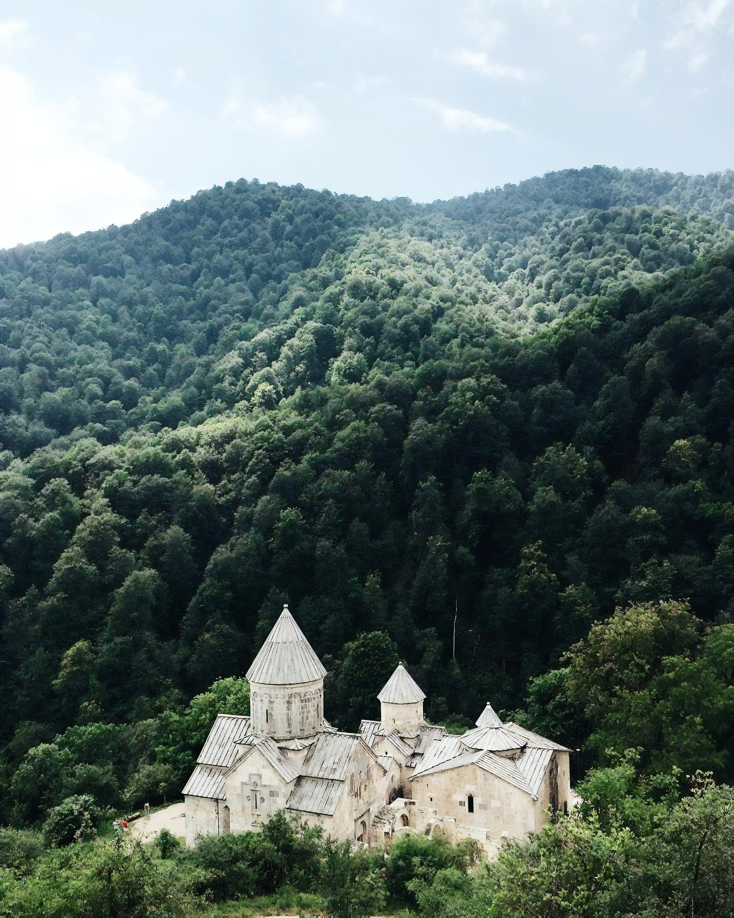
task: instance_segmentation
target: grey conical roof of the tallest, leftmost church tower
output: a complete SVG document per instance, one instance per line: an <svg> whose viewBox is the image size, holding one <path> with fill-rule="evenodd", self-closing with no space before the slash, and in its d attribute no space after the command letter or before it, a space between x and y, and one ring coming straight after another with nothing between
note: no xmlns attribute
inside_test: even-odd
<svg viewBox="0 0 734 918"><path fill-rule="evenodd" d="M316 682L326 674L313 647L306 641L306 635L285 605L246 677L259 685L284 686Z"/></svg>

